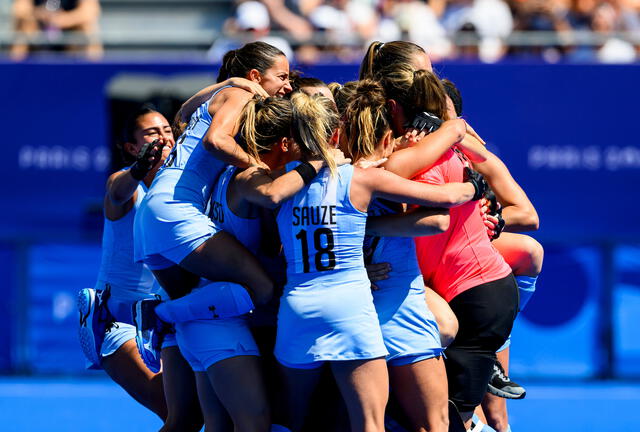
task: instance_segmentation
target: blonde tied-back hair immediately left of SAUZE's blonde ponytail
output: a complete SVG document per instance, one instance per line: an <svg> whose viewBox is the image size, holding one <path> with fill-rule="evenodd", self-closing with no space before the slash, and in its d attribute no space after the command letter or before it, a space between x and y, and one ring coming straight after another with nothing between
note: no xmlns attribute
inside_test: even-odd
<svg viewBox="0 0 640 432"><path fill-rule="evenodd" d="M279 138L291 135L293 111L287 99L254 96L242 109L238 122L244 150L254 159L271 150Z"/></svg>

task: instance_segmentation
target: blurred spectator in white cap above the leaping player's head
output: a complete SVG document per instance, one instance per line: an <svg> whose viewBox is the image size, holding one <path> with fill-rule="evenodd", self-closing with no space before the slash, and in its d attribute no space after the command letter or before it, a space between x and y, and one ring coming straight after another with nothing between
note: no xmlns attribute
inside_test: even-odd
<svg viewBox="0 0 640 432"><path fill-rule="evenodd" d="M240 48L248 42L262 41L275 46L292 60L293 50L289 42L282 37L270 35L270 32L271 22L267 7L259 1L242 2L238 5L235 16L225 22L225 36L216 39L207 57L220 63L227 51Z"/></svg>

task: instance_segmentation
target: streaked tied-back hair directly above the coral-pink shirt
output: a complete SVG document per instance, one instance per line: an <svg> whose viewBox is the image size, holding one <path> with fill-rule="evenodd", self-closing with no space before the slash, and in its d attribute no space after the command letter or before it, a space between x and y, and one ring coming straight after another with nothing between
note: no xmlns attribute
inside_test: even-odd
<svg viewBox="0 0 640 432"><path fill-rule="evenodd" d="M447 93L433 72L415 70L408 64L393 64L382 68L376 76L387 98L398 102L409 120L422 111L448 119Z"/></svg>

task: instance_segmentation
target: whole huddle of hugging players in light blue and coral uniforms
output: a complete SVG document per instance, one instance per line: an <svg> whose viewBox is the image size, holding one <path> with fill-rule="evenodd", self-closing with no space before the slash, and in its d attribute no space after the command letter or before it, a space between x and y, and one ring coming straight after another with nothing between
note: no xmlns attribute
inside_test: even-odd
<svg viewBox="0 0 640 432"><path fill-rule="evenodd" d="M128 121L78 297L89 367L162 431L509 431L533 205L421 47L294 75L249 43L173 125Z"/></svg>

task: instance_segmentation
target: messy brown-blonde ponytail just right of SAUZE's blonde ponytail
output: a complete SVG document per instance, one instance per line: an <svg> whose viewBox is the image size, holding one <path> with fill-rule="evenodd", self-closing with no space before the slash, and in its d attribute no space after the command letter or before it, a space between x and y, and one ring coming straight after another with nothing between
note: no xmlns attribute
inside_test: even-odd
<svg viewBox="0 0 640 432"><path fill-rule="evenodd" d="M384 88L378 81L358 83L347 106L342 125L342 142L347 156L357 161L375 153L378 143L391 128Z"/></svg>

